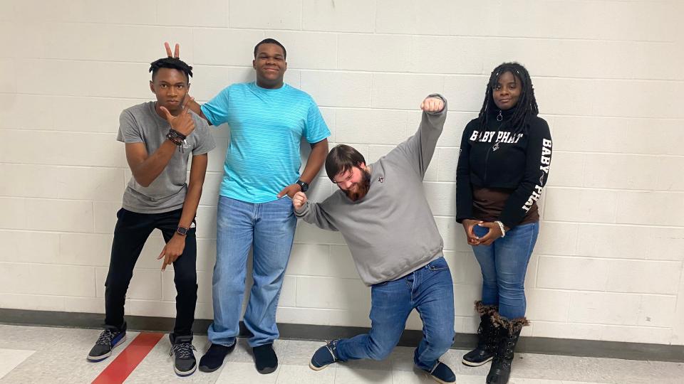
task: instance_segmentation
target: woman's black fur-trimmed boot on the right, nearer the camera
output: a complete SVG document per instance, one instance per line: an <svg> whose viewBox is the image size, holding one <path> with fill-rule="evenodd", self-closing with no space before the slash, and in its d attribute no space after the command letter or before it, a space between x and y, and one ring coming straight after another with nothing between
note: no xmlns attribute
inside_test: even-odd
<svg viewBox="0 0 684 384"><path fill-rule="evenodd" d="M511 375L513 351L518 343L523 326L529 325L524 317L506 319L498 312L492 314L492 324L497 332L497 347L494 351L492 367L487 374L487 384L506 384Z"/></svg>

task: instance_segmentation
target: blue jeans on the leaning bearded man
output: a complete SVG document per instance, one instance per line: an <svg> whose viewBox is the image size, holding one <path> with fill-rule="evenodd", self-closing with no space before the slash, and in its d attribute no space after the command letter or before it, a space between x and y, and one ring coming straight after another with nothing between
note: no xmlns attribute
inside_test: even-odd
<svg viewBox="0 0 684 384"><path fill-rule="evenodd" d="M423 339L413 362L431 370L454 342L454 285L444 257L400 279L373 285L371 332L338 341L338 359L383 360L399 342L413 309L423 319Z"/></svg>

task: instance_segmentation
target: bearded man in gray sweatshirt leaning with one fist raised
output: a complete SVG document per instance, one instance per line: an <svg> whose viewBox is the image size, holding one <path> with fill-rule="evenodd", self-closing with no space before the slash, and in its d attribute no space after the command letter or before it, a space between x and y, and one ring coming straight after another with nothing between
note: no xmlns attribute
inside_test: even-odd
<svg viewBox="0 0 684 384"><path fill-rule="evenodd" d="M430 95L416 132L389 154L366 164L356 149L338 145L326 159L340 188L322 203L293 198L295 215L346 240L363 283L371 287L371 331L318 348L309 366L336 361L383 360L397 345L413 309L423 319L423 339L413 361L439 383L455 383L439 361L454 341L454 290L442 255L442 237L423 190L423 178L447 117L446 100Z"/></svg>

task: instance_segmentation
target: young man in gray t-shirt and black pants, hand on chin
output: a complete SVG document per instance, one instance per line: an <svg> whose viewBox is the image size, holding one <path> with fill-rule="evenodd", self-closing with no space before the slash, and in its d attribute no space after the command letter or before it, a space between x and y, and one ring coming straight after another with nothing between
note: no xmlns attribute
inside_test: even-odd
<svg viewBox="0 0 684 384"><path fill-rule="evenodd" d="M166 242L157 259L162 271L173 264L176 322L170 334L177 375L191 375L197 366L192 323L197 302L197 240L195 214L207 171L207 152L214 139L203 119L187 108L192 67L178 58L162 58L150 67L150 90L156 102L130 107L120 116L117 140L125 143L133 174L123 194L105 282L105 331L88 353L102 361L125 341L123 306L133 267L152 230ZM190 182L187 164L192 154Z"/></svg>

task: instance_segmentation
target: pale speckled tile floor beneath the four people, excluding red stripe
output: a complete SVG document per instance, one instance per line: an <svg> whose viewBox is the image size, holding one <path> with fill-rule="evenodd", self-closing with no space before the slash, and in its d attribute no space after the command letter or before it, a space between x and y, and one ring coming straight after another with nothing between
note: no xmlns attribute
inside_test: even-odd
<svg viewBox="0 0 684 384"><path fill-rule="evenodd" d="M138 334L128 332L127 341L113 357L89 363L86 354L100 331L33 326L0 325L0 384L90 383ZM197 357L207 348L207 337L196 336ZM435 383L413 368L413 349L399 347L385 361L337 363L321 371L311 370L309 358L318 341L279 340L275 343L279 368L261 375L254 368L251 349L244 339L224 366L214 373L197 371L178 378L169 356L170 343L162 338L125 383L247 383L247 384L412 384ZM460 363L466 351L452 349L442 357L457 374L457 383L484 383L489 364L469 368ZM684 383L684 363L628 361L611 358L517 353L511 384L581 383Z"/></svg>

